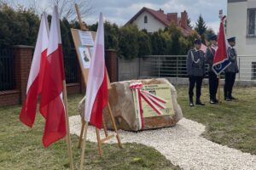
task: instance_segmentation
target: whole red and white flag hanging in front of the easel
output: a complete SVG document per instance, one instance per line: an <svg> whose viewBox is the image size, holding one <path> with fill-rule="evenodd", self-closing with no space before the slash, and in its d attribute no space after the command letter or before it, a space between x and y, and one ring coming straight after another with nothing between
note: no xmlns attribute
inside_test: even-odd
<svg viewBox="0 0 256 170"><path fill-rule="evenodd" d="M90 122L93 126L102 128L102 111L107 103L108 82L105 66L103 16L101 13L86 88L85 122Z"/></svg>

